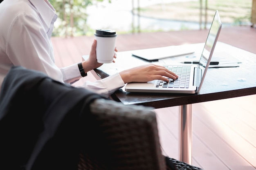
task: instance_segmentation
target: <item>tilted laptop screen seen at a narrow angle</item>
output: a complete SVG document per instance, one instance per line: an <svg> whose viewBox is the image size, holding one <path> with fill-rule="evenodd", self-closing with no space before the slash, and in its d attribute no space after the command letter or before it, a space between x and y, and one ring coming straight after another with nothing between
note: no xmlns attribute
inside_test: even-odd
<svg viewBox="0 0 256 170"><path fill-rule="evenodd" d="M222 23L220 21L220 16L218 11L216 11L214 18L213 18L213 22L211 24L211 28L209 30L209 34L207 36L207 40L205 42L204 45L204 49L202 51L202 55L200 58L200 62L199 62L199 68L201 70L201 74L198 74L198 80L200 81L199 87L198 87L198 91L200 90L203 79L205 77L205 68L209 67L210 61L209 58L211 58L211 55L213 54L213 50L214 47L216 45L216 42L218 40L218 36L220 34L220 29L221 29Z"/></svg>

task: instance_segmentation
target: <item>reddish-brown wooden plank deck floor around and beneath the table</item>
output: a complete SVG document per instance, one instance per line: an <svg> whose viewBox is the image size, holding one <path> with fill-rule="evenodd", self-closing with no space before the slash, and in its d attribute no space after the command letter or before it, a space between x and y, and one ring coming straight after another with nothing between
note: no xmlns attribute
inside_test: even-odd
<svg viewBox="0 0 256 170"><path fill-rule="evenodd" d="M200 43L205 41L207 33L208 30L193 30L126 34L118 36L116 45L119 51L128 51ZM57 66L80 62L81 55L89 53L93 39L52 38ZM256 29L250 26L222 28L219 41L256 53ZM95 80L89 73L81 82L88 79ZM256 95L193 104L192 164L205 170L255 170L255 105ZM162 148L169 157L179 159L179 107L155 111Z"/></svg>

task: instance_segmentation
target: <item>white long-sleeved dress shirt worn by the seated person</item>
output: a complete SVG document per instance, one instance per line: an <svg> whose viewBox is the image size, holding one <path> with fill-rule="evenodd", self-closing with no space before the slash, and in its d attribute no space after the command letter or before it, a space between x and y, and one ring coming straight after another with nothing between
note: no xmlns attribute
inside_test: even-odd
<svg viewBox="0 0 256 170"><path fill-rule="evenodd" d="M0 3L0 86L11 66L24 66L46 73L60 82L81 78L77 64L58 68L54 64L51 36L57 19L47 0L4 0ZM124 86L117 73L83 86L108 97Z"/></svg>

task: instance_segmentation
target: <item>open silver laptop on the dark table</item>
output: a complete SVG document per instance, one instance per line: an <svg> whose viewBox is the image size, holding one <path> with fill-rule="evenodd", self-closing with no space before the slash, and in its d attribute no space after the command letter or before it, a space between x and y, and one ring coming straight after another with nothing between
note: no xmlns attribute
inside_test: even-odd
<svg viewBox="0 0 256 170"><path fill-rule="evenodd" d="M125 91L146 93L199 93L220 34L221 26L220 16L218 11L216 11L207 40L202 49L199 64L163 65L179 75L178 79L170 79L169 82L154 80L145 83L128 83L125 86Z"/></svg>

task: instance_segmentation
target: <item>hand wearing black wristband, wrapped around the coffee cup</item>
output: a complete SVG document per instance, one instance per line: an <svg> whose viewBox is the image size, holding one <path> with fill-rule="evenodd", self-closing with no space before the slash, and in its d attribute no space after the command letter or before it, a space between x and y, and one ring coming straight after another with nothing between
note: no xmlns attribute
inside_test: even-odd
<svg viewBox="0 0 256 170"><path fill-rule="evenodd" d="M97 46L97 41L93 40L89 58L88 60L82 62L82 66L85 72L91 71L92 69L98 68L102 65L102 63L97 62L96 46ZM116 53L117 51L118 51L117 48L115 48L115 53L113 56L114 58L117 58L117 53ZM115 62L115 60L113 60L113 62Z"/></svg>

